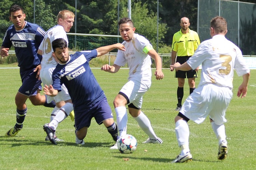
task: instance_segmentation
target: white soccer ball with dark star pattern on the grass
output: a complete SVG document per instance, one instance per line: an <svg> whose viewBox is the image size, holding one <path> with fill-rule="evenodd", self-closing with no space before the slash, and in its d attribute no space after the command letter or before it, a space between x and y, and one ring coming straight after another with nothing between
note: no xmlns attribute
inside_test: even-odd
<svg viewBox="0 0 256 170"><path fill-rule="evenodd" d="M117 148L121 153L133 153L137 148L137 140L132 135L123 135L117 140Z"/></svg>

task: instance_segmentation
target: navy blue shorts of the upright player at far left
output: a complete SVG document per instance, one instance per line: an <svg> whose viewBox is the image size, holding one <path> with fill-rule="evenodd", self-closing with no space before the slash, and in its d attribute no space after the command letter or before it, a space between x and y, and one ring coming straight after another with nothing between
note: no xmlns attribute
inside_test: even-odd
<svg viewBox="0 0 256 170"><path fill-rule="evenodd" d="M22 79L22 86L19 88L19 92L26 96L37 95L37 90L42 90L41 80L35 78L37 71L33 72L35 68L29 70L19 70L20 78Z"/></svg>

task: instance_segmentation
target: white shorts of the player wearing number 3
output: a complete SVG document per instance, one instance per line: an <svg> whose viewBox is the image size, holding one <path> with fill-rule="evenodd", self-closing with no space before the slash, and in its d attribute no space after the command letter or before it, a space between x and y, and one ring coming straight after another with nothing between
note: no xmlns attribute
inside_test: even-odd
<svg viewBox="0 0 256 170"><path fill-rule="evenodd" d="M217 125L221 125L227 122L225 114L232 95L232 90L228 87L205 84L188 96L180 112L198 124L209 115Z"/></svg>

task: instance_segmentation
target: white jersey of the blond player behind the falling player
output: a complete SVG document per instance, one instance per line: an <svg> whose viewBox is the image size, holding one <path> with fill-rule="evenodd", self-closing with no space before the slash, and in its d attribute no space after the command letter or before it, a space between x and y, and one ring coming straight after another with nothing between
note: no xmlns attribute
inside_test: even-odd
<svg viewBox="0 0 256 170"><path fill-rule="evenodd" d="M49 67L56 67L57 62L54 60L52 53L52 42L57 38L63 38L67 41L68 44L68 37L64 30L64 28L60 25L56 25L53 28L50 28L45 36L44 39L39 47L40 50L43 51L43 58L41 61L42 68L49 68Z"/></svg>

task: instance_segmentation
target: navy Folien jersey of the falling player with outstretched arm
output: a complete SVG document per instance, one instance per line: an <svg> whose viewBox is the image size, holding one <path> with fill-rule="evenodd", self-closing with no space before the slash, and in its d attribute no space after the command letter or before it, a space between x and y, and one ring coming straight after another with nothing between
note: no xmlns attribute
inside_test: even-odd
<svg viewBox="0 0 256 170"><path fill-rule="evenodd" d="M86 107L105 98L89 67L89 61L97 54L97 50L76 52L70 55L66 64L58 64L53 71L53 88L60 91L61 85L65 84L74 107Z"/></svg>

